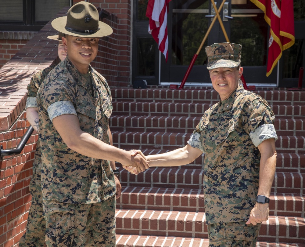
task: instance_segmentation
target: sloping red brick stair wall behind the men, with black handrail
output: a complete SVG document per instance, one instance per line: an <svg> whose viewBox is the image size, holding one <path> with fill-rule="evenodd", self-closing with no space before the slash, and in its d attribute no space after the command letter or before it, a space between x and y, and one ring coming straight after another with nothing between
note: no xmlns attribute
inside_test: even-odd
<svg viewBox="0 0 305 247"><path fill-rule="evenodd" d="M110 86L126 86L130 78L120 74L117 17L110 14L103 21L113 27L114 32L101 39L98 57L92 65L106 77ZM57 42L46 38L56 33L50 21L0 68L0 144L4 149L16 148L29 126L24 112L26 88L33 74L56 60ZM25 230L37 138L34 132L21 154L5 156L0 161L0 247L17 246Z"/></svg>

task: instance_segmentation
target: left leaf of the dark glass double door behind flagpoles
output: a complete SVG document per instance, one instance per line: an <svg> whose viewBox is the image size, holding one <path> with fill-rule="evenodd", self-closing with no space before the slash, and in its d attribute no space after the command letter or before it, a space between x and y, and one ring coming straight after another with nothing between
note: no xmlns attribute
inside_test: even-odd
<svg viewBox="0 0 305 247"><path fill-rule="evenodd" d="M168 31L169 53L165 63L161 57L161 84L180 84L209 27L210 0L175 0L170 2ZM209 37L217 34L213 29ZM208 45L208 40L204 46ZM187 83L201 85L208 80L204 47L199 53Z"/></svg>

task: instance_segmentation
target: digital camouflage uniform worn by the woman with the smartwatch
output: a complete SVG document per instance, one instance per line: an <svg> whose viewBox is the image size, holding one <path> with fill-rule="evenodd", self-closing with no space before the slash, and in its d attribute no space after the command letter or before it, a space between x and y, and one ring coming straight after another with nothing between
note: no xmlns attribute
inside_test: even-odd
<svg viewBox="0 0 305 247"><path fill-rule="evenodd" d="M277 139L273 122L268 103L240 85L228 99L204 113L188 140L189 145L205 153L203 188L208 229L220 231L215 230L217 223L226 223L221 231L225 231L228 242L214 245L209 236L211 247L255 246L259 228L245 222L256 203L259 185L257 146L269 138ZM244 223L241 227L232 222ZM254 241L254 245L238 245L240 239Z"/></svg>

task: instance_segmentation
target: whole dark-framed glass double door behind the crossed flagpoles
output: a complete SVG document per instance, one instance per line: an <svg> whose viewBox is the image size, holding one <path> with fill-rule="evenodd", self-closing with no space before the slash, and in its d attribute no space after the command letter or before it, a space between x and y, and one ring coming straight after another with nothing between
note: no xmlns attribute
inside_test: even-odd
<svg viewBox="0 0 305 247"><path fill-rule="evenodd" d="M217 9L221 0L215 0ZM161 58L161 84L181 83L193 55L197 52L215 16L210 0L171 2L169 59ZM264 13L249 0L227 0L220 11L224 29L231 43L242 45L241 64L247 84L276 85L276 70L266 77L268 25ZM216 20L185 85L210 85L206 70L205 46L226 42ZM263 78L263 80L262 80Z"/></svg>

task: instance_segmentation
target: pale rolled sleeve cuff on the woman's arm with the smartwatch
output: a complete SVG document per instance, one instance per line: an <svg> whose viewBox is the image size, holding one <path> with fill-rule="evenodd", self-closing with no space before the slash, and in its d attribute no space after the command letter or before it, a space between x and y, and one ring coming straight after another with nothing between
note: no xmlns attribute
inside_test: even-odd
<svg viewBox="0 0 305 247"><path fill-rule="evenodd" d="M273 138L278 140L273 124L264 124L250 132L250 138L255 147L260 145L264 140Z"/></svg>

